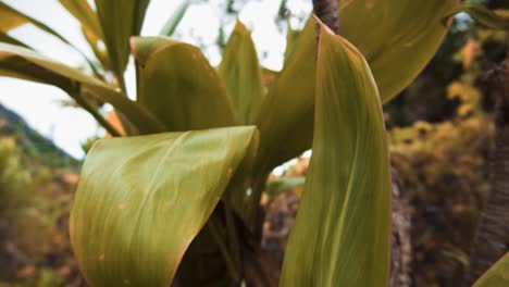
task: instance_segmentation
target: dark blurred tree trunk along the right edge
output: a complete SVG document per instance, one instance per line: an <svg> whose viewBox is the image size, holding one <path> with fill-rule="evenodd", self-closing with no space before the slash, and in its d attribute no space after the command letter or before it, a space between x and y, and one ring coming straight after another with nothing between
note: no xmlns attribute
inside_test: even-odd
<svg viewBox="0 0 509 287"><path fill-rule="evenodd" d="M509 41L501 71L491 72L496 101L491 190L481 213L464 286L472 284L508 251L509 242Z"/></svg>

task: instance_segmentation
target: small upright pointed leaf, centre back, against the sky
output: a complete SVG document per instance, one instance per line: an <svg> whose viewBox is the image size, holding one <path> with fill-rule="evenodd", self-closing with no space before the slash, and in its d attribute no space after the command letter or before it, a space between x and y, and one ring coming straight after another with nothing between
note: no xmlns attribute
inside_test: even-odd
<svg viewBox="0 0 509 287"><path fill-rule="evenodd" d="M238 123L253 123L260 111L264 88L251 34L240 21L237 21L226 43L219 74L226 83Z"/></svg>

